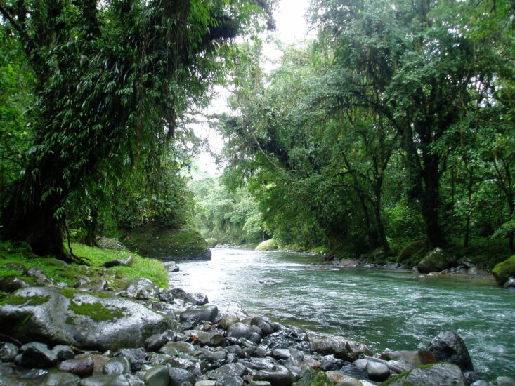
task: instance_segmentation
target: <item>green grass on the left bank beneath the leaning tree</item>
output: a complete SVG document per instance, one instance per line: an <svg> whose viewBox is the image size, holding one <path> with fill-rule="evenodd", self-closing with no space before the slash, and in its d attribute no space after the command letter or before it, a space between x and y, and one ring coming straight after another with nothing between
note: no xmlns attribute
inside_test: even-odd
<svg viewBox="0 0 515 386"><path fill-rule="evenodd" d="M131 252L95 248L78 243L72 244L72 251L75 255L88 258L89 265L65 265L56 258L34 255L27 246L0 241L0 277L17 276L35 285L34 277L20 274L17 269L2 267L6 263L15 262L27 269L39 267L47 277L56 282L62 281L68 286L72 286L77 281L77 277L86 276L92 281L104 279L115 290L124 288L126 282L136 277L146 277L161 288L168 287L168 274L159 260L143 258ZM125 259L129 255L133 258L130 266L109 269L102 267L103 262ZM0 298L6 295L7 293L0 291Z"/></svg>

